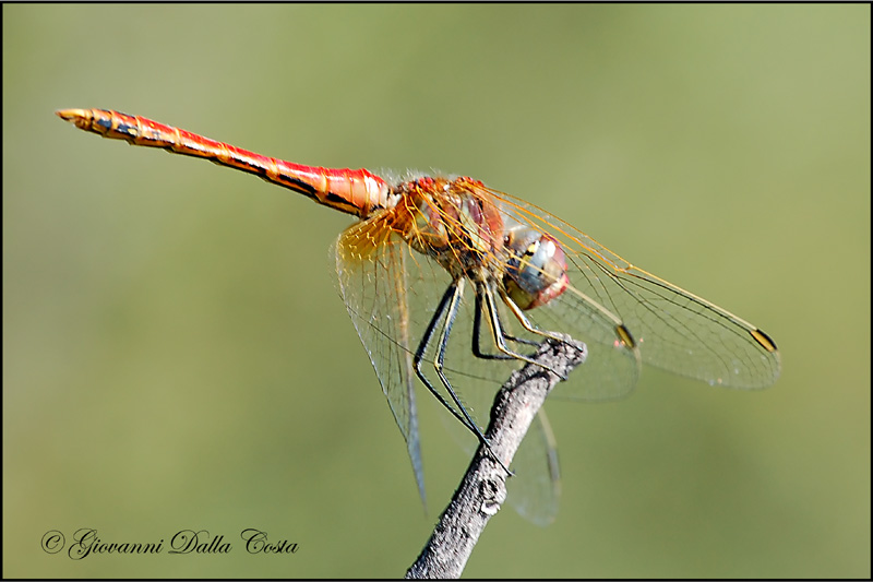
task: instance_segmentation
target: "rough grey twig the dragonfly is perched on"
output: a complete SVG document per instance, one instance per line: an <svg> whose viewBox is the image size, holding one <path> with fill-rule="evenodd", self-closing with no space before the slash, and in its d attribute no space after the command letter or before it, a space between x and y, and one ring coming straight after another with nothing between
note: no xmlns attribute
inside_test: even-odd
<svg viewBox="0 0 873 582"><path fill-rule="evenodd" d="M586 356L585 344L547 340L531 358L566 378ZM561 377L528 364L516 370L498 392L486 438L510 466L530 423ZM506 499L506 472L479 447L464 480L440 516L428 544L407 570L407 579L459 578L488 520Z"/></svg>

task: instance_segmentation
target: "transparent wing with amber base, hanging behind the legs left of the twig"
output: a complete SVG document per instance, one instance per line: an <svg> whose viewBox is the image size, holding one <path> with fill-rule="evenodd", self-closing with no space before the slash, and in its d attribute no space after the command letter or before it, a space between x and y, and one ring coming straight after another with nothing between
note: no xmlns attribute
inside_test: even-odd
<svg viewBox="0 0 873 582"><path fill-rule="evenodd" d="M416 483L426 499L415 387L421 384L414 357L436 306L451 284L449 273L430 258L415 252L398 236L394 216L383 213L347 228L335 242L339 293L358 336L373 365L382 392L406 440ZM470 352L474 299L462 297L450 335L445 375L481 430L488 421L497 389L518 367L515 360L481 360ZM441 322L441 323L444 323ZM436 342L424 353L422 372L445 402L452 399L434 371ZM468 397L468 395L470 397ZM432 397L426 392L426 397ZM457 411L454 404L452 407ZM471 433L453 416L465 437Z"/></svg>

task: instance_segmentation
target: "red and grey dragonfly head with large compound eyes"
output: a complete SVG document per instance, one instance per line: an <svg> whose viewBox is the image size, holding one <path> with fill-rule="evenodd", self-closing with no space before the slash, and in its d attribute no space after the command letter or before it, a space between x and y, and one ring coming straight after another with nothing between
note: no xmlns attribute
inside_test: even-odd
<svg viewBox="0 0 873 582"><path fill-rule="evenodd" d="M566 289L566 256L551 235L529 226L510 229L503 240L509 253L503 286L522 309L546 305Z"/></svg>

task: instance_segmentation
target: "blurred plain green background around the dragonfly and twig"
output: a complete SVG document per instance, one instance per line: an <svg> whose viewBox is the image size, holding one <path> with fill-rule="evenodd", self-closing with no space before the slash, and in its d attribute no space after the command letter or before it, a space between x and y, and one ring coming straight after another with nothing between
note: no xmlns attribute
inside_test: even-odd
<svg viewBox="0 0 873 582"><path fill-rule="evenodd" d="M3 575L399 577L467 460L423 407L424 514L349 217L64 107L474 176L776 340L763 392L551 403L558 521L502 511L465 575L870 577L870 7L3 5ZM40 549L81 527L235 549Z"/></svg>

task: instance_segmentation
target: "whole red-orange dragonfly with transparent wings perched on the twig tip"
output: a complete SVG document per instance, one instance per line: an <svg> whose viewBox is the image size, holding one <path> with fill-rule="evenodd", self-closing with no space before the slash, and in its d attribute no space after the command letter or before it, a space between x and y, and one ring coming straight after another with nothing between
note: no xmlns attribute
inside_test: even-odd
<svg viewBox="0 0 873 582"><path fill-rule="evenodd" d="M776 344L755 325L479 180L304 166L106 109L57 115L104 138L254 174L357 218L333 246L339 293L406 441L422 502L417 382L487 448L488 407L478 403L488 401L471 394L493 396L507 370L530 361L531 346L559 334L585 342L588 356L554 397L624 396L643 363L739 389L779 377ZM527 453L541 465L531 489L545 500L526 516L548 522L560 474L543 411L531 433L525 442L542 451Z"/></svg>

